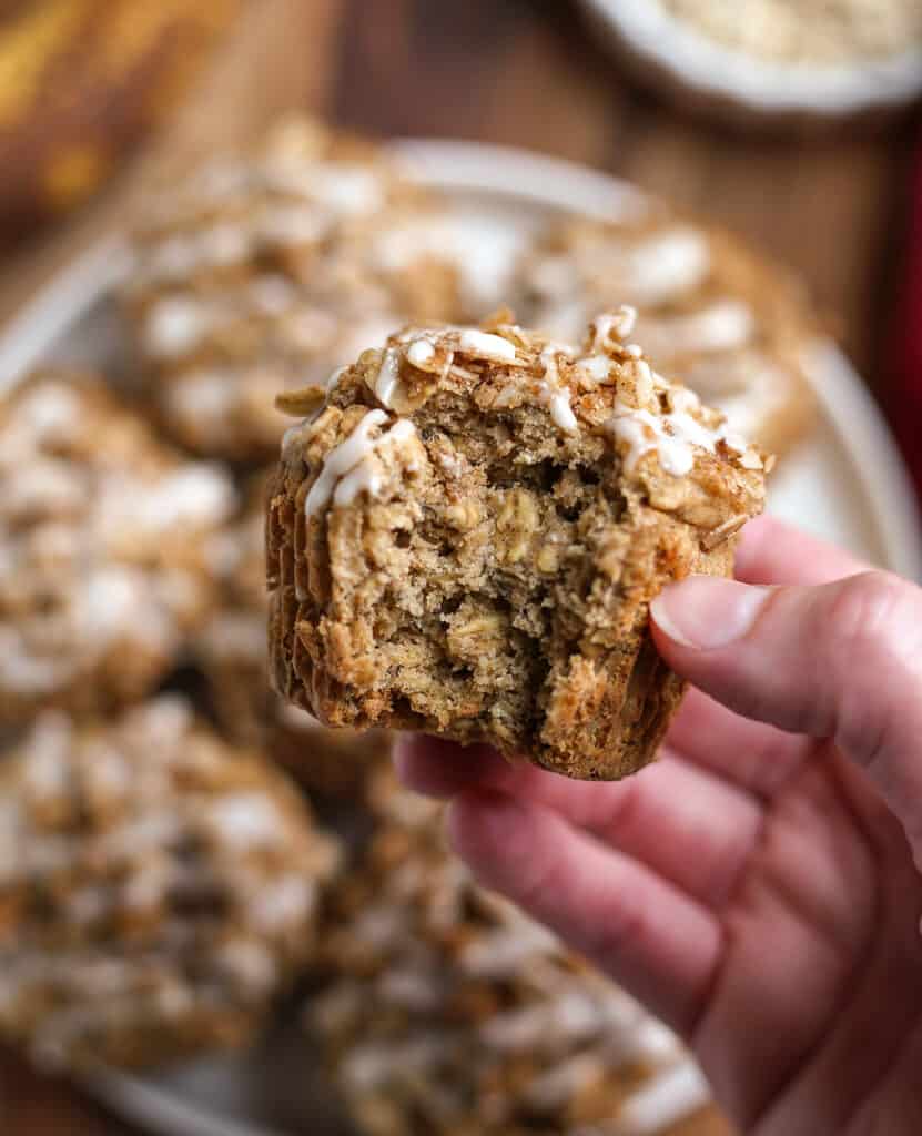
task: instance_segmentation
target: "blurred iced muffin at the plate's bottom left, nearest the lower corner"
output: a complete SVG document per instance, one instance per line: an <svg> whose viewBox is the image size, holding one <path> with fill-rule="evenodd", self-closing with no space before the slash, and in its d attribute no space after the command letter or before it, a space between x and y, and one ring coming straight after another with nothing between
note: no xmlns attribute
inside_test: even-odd
<svg viewBox="0 0 922 1136"><path fill-rule="evenodd" d="M0 1035L57 1068L250 1039L337 858L282 774L166 696L40 717L0 769Z"/></svg>

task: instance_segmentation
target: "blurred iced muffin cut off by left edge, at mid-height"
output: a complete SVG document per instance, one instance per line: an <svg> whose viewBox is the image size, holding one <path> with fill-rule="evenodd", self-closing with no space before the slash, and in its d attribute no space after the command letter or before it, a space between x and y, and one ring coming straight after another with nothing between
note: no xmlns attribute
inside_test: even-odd
<svg viewBox="0 0 922 1136"><path fill-rule="evenodd" d="M235 493L91 376L0 401L0 724L150 691L212 605Z"/></svg>

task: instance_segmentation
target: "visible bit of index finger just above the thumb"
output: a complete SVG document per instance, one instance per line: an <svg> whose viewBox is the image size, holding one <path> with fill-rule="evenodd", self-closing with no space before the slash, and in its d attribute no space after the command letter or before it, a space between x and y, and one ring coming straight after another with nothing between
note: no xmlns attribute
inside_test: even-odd
<svg viewBox="0 0 922 1136"><path fill-rule="evenodd" d="M829 584L871 567L776 517L756 517L743 529L736 578L744 584Z"/></svg>

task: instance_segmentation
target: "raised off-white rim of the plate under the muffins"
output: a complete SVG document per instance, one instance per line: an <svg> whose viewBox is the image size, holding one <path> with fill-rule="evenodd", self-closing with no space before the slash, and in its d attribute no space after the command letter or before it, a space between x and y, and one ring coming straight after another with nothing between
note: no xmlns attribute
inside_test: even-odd
<svg viewBox="0 0 922 1136"><path fill-rule="evenodd" d="M597 216L610 214L612 207L643 209L653 200L639 187L588 166L511 147L395 139L387 148L405 162L411 177L435 187L526 198L546 208ZM129 264L126 240L118 234L103 237L0 327L0 393L36 366L67 327L124 278ZM922 524L915 494L879 407L832 341L812 344L808 356L811 385L860 481L888 567L922 579ZM864 451L864 460L858 460L856 446ZM203 1112L137 1075L107 1069L83 1077L81 1084L115 1113L165 1136L287 1136Z"/></svg>

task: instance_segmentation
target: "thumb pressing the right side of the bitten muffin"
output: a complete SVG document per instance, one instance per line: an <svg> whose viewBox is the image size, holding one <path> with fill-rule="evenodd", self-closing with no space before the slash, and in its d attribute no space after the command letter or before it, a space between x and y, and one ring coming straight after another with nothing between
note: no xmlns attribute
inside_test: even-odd
<svg viewBox="0 0 922 1136"><path fill-rule="evenodd" d="M885 573L820 587L692 576L651 604L667 662L724 705L835 741L922 855L922 591Z"/></svg>

